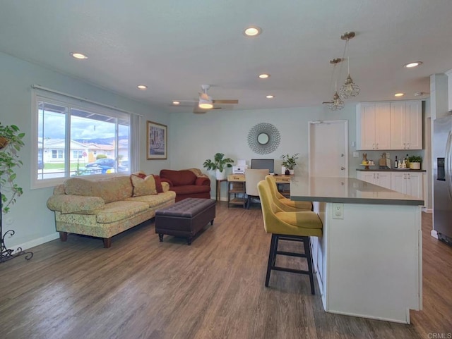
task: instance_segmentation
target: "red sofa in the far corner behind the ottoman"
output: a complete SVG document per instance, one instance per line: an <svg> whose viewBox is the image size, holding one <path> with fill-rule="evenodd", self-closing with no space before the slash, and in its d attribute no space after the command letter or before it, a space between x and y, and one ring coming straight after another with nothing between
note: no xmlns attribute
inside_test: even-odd
<svg viewBox="0 0 452 339"><path fill-rule="evenodd" d="M198 168L160 171L160 179L169 183L169 190L176 192L176 202L186 198L210 199L210 179Z"/></svg>

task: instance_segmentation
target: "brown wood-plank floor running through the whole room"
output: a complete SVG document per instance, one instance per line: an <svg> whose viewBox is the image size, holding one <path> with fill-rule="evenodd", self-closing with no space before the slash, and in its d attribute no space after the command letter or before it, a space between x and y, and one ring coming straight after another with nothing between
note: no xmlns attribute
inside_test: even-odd
<svg viewBox="0 0 452 339"><path fill-rule="evenodd" d="M261 210L221 202L191 246L159 242L150 222L109 249L69 235L0 264L0 338L451 338L452 248L430 236L431 214L422 228L424 309L410 325L323 312L307 276L273 271L265 288Z"/></svg>

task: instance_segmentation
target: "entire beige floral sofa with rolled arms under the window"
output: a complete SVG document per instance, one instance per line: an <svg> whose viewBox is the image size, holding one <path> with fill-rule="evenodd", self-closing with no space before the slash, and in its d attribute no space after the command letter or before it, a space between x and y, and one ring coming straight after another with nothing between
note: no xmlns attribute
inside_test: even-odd
<svg viewBox="0 0 452 339"><path fill-rule="evenodd" d="M61 241L68 233L112 237L155 216L155 211L174 204L176 193L158 175L134 173L102 179L69 178L54 187L47 207L55 212Z"/></svg>

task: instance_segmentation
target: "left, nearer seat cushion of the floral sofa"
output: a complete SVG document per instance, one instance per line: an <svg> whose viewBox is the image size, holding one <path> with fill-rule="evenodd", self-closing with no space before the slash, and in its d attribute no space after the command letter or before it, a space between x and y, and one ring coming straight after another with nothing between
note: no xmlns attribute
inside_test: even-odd
<svg viewBox="0 0 452 339"><path fill-rule="evenodd" d="M100 210L96 215L98 223L113 223L114 221L123 220L136 214L146 211L148 204L145 202L110 202L105 204L104 209Z"/></svg>

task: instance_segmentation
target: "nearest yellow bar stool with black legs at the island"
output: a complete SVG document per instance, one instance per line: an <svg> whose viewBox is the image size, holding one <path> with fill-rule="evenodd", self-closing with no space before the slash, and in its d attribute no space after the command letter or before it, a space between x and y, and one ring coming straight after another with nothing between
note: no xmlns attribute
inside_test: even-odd
<svg viewBox="0 0 452 339"><path fill-rule="evenodd" d="M272 270L291 273L307 274L311 284L311 294L315 294L314 273L312 269L312 254L309 237L321 237L322 222L313 211L286 212L279 209L273 202L270 186L266 180L258 183L259 197L261 198L263 227L266 233L271 233L270 253L268 254L266 287L270 281ZM278 251L279 240L303 242L304 253ZM290 269L276 266L276 256L285 255L290 257L302 257L307 259L308 271Z"/></svg>

